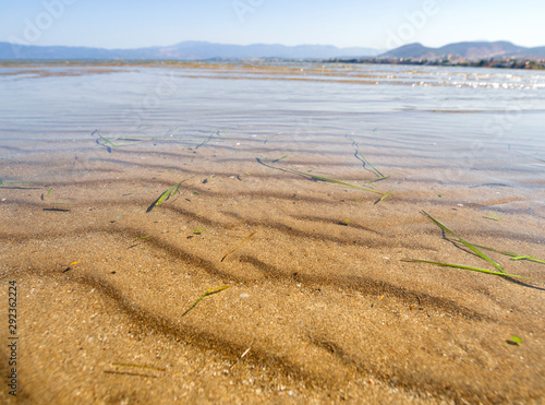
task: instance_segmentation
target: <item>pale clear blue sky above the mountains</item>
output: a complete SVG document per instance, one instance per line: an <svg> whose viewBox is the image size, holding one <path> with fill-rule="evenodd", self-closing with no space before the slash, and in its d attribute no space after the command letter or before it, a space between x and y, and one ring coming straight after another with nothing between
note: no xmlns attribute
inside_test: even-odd
<svg viewBox="0 0 545 405"><path fill-rule="evenodd" d="M393 48L545 46L536 0L0 0L0 41L137 48L182 40Z"/></svg>

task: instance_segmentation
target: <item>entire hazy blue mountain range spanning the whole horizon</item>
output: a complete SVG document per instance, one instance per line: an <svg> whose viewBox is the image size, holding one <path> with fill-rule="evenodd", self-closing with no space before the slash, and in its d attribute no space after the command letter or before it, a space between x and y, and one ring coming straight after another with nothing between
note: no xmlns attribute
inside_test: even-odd
<svg viewBox="0 0 545 405"><path fill-rule="evenodd" d="M0 60L205 60L205 59L331 59L383 58L438 60L444 58L545 59L545 47L525 48L508 41L471 41L428 48L409 44L384 52L373 48L337 48L330 45L227 45L206 41L183 41L166 47L105 49L68 46L34 46L0 43Z"/></svg>

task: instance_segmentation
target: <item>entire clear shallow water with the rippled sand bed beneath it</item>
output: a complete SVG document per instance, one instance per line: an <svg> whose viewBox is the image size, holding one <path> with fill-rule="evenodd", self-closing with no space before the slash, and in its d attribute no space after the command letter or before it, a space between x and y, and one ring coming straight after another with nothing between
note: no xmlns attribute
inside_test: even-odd
<svg viewBox="0 0 545 405"><path fill-rule="evenodd" d="M28 401L543 398L543 264L494 252L533 279L516 281L407 259L494 270L421 211L544 258L544 83L388 65L0 68L0 278L21 288Z"/></svg>

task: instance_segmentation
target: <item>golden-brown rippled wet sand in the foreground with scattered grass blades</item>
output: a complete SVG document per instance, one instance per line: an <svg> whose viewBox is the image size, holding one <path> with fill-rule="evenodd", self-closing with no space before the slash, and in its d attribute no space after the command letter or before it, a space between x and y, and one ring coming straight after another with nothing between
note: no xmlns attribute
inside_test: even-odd
<svg viewBox="0 0 545 405"><path fill-rule="evenodd" d="M332 136L111 153L89 140L3 158L4 181L41 182L0 186L0 299L16 281L21 336L19 402L5 386L0 401L542 403L544 284L403 259L494 270L423 210L473 243L544 259L543 163L516 155L507 170L492 155L465 170L426 140L408 154L354 139L390 176L371 183L393 190L384 201L275 168L367 187L368 165ZM543 264L489 254L545 279Z"/></svg>

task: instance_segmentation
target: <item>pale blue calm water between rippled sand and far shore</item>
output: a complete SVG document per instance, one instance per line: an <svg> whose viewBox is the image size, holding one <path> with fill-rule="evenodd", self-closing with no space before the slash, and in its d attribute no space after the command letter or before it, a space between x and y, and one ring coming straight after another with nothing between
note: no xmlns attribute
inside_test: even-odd
<svg viewBox="0 0 545 405"><path fill-rule="evenodd" d="M100 129L108 139L193 143L216 131L264 143L346 143L348 134L409 156L463 150L472 153L471 167L480 156L545 159L544 128L538 71L293 62L0 67L3 159L97 146L92 134Z"/></svg>

